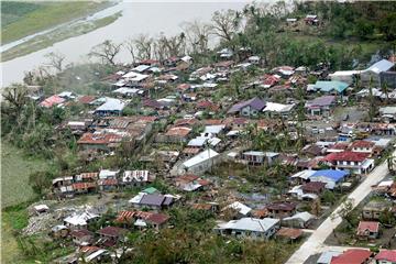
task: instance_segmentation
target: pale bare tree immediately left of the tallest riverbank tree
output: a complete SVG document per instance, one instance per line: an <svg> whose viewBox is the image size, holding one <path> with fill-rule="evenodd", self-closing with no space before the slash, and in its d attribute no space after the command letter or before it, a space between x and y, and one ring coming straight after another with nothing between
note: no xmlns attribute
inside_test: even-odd
<svg viewBox="0 0 396 264"><path fill-rule="evenodd" d="M212 34L210 24L196 20L185 23L183 29L194 53L206 53L208 51L209 36Z"/></svg>

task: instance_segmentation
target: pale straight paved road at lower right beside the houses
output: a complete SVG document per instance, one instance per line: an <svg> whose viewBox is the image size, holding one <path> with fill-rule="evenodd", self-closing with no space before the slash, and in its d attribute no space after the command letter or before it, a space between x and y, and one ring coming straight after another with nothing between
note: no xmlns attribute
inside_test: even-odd
<svg viewBox="0 0 396 264"><path fill-rule="evenodd" d="M394 155L395 154L396 151L394 152ZM371 186L376 185L387 174L388 168L386 162L378 165L371 174L369 174L366 179L364 179L363 183L348 196L348 198L353 200L353 208L371 193ZM342 206L343 204L334 210L336 215ZM310 255L323 252L328 249L328 246L324 245L324 241L341 221L342 219L340 217L333 219L331 216L328 217L319 228L312 232L308 240L290 256L286 264L302 264Z"/></svg>

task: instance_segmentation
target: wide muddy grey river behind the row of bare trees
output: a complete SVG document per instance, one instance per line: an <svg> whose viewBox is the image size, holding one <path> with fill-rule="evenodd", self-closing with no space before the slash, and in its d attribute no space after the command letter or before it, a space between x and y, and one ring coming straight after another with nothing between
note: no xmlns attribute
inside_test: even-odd
<svg viewBox="0 0 396 264"><path fill-rule="evenodd" d="M112 14L122 11L122 16L116 22L89 32L84 35L70 37L54 44L51 47L1 63L1 87L11 82L22 81L24 73L45 64L44 55L57 52L66 56L65 63L82 63L88 61L87 54L97 44L105 40L116 43L123 42L139 34L156 36L182 32L184 22L199 20L210 21L212 13L222 9L241 10L246 1L232 2L120 2L114 7L100 11L96 16ZM130 62L128 53L118 57L119 62Z"/></svg>

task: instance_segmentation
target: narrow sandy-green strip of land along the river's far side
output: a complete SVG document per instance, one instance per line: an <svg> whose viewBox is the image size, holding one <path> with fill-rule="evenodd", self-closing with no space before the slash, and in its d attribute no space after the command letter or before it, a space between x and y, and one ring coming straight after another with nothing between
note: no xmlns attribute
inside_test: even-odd
<svg viewBox="0 0 396 264"><path fill-rule="evenodd" d="M105 25L111 24L114 22L121 13L116 13L102 19L98 19L92 22L78 23L70 26L61 28L52 31L48 34L36 36L23 44L20 44L13 48L10 48L1 54L1 62L7 62L15 57L24 56L30 53L40 51L47 46L51 46L63 40L86 34L90 31L97 30Z"/></svg>

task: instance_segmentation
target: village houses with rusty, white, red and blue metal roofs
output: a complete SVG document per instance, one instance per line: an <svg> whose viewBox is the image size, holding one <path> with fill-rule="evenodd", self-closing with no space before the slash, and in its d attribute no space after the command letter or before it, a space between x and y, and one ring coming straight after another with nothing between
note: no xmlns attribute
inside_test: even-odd
<svg viewBox="0 0 396 264"><path fill-rule="evenodd" d="M317 15L307 15L305 22L309 25L319 24ZM59 198L123 191L129 187L145 188L128 200L128 208L117 212L113 219L117 226L88 231L92 230L88 227L101 216L82 211L68 216L62 224L54 227L54 238L72 238L79 249L78 256L61 262L78 263L81 255L86 262L106 262L113 254L108 248L119 246L125 241L129 230L166 228L170 219L166 210L175 204L216 213L221 218L213 228L219 235L299 239L302 229L310 227L318 218L301 209L301 202L320 199L324 191L348 189L353 179L370 175L376 158L393 147L391 136L396 134L396 107L380 108L378 122L354 120L341 122L337 127L329 124L331 128L326 129L305 128L304 141L308 144L302 145L298 153L263 151L246 144L243 136L246 129L253 127L258 131L274 132L285 127L285 131L288 131L285 133L296 140L298 108L302 108L308 120L326 123L333 116L334 109L342 107L345 98L352 95L364 97L362 90L356 95L353 91L355 78L362 80L363 87L367 79L374 79L378 90L384 81L395 88L394 65L383 59L365 70L336 72L330 75L323 65L315 70L304 66L261 69L265 74L246 79L245 82L250 82L239 87L242 94L255 90L260 96L240 96L238 99L230 95L215 100L213 95L220 87L229 85L233 73L245 73L250 67L262 66L262 59L249 48L223 48L217 53L217 62L210 65L196 65L193 57L186 55L169 57L164 62L145 59L132 66L123 66L119 72L102 78L111 91L100 97L68 91L47 98L32 96L41 107L48 109L67 108L76 103L84 106L85 110L79 118L74 117L58 127L76 136L81 153L94 156L117 155L117 150L123 147L142 163L162 164L155 173L154 169L114 168L53 179L53 194ZM315 76L318 80L309 84L308 76ZM294 96L298 87L304 87L307 94L308 99L302 105ZM284 92L287 98L276 100L272 95L278 92ZM213 179L213 175L210 175L221 163L241 163L248 167L280 164L293 166L297 173L284 175L288 178L287 189L282 190L283 195L277 199L260 206L242 199L230 199L223 205L213 195L221 186L219 178L215 176ZM168 180L166 183L183 195L162 194L147 186L160 177ZM396 196L393 183L381 187L378 191L384 195ZM206 199L185 202L186 191L200 191L206 194ZM41 211L46 210L48 208L41 208ZM232 217L224 217L228 215ZM378 219L377 212L364 209L363 218L356 234L376 238L380 229L375 220ZM369 260L372 257L372 253L369 253L346 251L323 258L328 260L326 263L358 263L345 260L356 255ZM392 256L394 252L382 251L374 258L385 263L381 261Z"/></svg>

